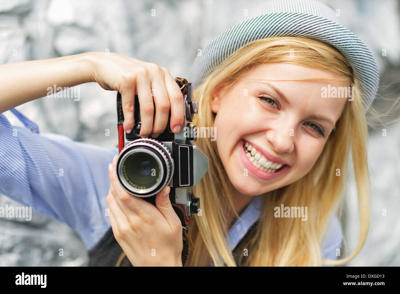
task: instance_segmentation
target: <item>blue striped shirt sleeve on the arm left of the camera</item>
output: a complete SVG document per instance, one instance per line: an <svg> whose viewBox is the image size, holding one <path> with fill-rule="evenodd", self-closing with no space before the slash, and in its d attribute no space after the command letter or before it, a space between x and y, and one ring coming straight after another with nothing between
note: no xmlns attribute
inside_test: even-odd
<svg viewBox="0 0 400 294"><path fill-rule="evenodd" d="M33 133L0 114L0 193L68 224L92 248L110 228L108 163L118 147Z"/></svg>

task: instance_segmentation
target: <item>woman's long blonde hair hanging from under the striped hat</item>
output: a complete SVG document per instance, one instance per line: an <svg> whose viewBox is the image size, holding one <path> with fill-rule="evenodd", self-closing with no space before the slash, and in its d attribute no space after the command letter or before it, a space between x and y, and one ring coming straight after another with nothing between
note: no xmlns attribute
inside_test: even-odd
<svg viewBox="0 0 400 294"><path fill-rule="evenodd" d="M250 42L229 56L207 79L198 86L194 98L200 101L199 114L194 124L202 127L214 125L210 101L214 90L230 87L240 74L252 66L268 63L291 63L328 71L354 87L354 101L346 102L344 111L326 141L324 150L314 167L296 182L270 191L262 196L260 222L255 234L248 240L248 256L241 256L246 266L320 266L344 264L352 259L364 245L370 220L370 179L366 143L368 126L364 114L365 102L357 77L349 62L332 46L308 38L274 37ZM204 266L206 256L215 266L237 266L226 244L227 211L236 217L228 176L218 156L216 141L199 138L196 145L209 157L209 169L194 188L202 205L201 216L195 215L189 223L191 232L197 233L194 248L186 266ZM357 185L360 236L358 246L345 258L322 260L321 242L328 220L337 213L348 174L350 154ZM338 176L337 169L340 169ZM308 221L300 218L274 217L274 207L308 207ZM339 249L339 248L338 248ZM246 260L243 260L246 258Z"/></svg>

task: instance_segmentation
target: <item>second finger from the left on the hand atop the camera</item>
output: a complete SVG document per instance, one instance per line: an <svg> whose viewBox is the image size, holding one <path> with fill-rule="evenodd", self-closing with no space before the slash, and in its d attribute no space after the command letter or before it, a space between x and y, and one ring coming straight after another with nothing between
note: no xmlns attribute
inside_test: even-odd
<svg viewBox="0 0 400 294"><path fill-rule="evenodd" d="M154 101L151 95L150 81L147 75L138 75L138 98L140 107L140 137L148 138L153 129Z"/></svg>

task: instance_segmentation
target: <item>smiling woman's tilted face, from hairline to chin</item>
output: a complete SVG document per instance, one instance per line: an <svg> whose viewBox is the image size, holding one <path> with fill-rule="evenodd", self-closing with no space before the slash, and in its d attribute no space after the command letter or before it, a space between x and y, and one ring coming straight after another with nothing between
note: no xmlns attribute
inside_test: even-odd
<svg viewBox="0 0 400 294"><path fill-rule="evenodd" d="M307 78L332 82L290 80ZM274 81L278 79L284 81ZM214 92L218 153L238 192L260 195L312 169L348 101L321 97L328 83L331 89L348 86L334 79L294 64L262 64L241 75L229 90Z"/></svg>

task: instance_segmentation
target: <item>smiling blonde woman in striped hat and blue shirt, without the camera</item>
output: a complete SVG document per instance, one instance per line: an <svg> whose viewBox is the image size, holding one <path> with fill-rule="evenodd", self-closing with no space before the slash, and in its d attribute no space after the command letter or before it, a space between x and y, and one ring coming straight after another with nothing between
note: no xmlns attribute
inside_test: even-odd
<svg viewBox="0 0 400 294"><path fill-rule="evenodd" d="M0 115L0 192L66 222L88 249L106 252L115 237L124 252L119 263L124 258L133 266L318 266L353 258L369 226L365 113L378 87L376 64L324 4L269 1L256 11L214 39L188 78L200 101L194 124L215 128L216 141L196 142L210 167L195 187L202 211L189 223L194 246L186 262L182 225L163 197L169 187L158 193L156 206L126 193L116 180L116 157L105 167L116 148L22 128L13 137L16 128ZM4 64L0 72L1 112L43 97L49 85L96 81L122 94L126 132L134 125L135 95L142 137L157 137L169 111L171 130L182 127L182 93L156 64L90 52ZM360 240L354 252L335 260L343 255L335 214L350 154ZM64 166L67 179L57 176Z"/></svg>

